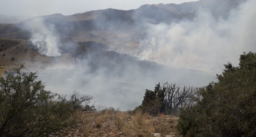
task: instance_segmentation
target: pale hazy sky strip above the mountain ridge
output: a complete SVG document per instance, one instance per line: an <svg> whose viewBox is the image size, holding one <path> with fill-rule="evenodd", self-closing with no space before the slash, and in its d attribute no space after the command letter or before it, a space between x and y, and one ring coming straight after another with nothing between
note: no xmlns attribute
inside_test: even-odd
<svg viewBox="0 0 256 137"><path fill-rule="evenodd" d="M0 14L48 15L62 13L71 15L98 9L136 9L143 4L167 4L198 0L0 0Z"/></svg>

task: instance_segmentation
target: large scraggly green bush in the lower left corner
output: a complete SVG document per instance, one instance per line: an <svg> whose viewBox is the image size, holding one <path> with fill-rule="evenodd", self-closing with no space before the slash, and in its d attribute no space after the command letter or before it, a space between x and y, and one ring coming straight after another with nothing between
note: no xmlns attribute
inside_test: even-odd
<svg viewBox="0 0 256 137"><path fill-rule="evenodd" d="M67 100L46 91L44 84L36 81L37 73L21 72L24 68L19 64L14 73L0 77L0 136L59 136L76 126L80 114L77 108L91 98L80 100L74 93L73 99Z"/></svg>

